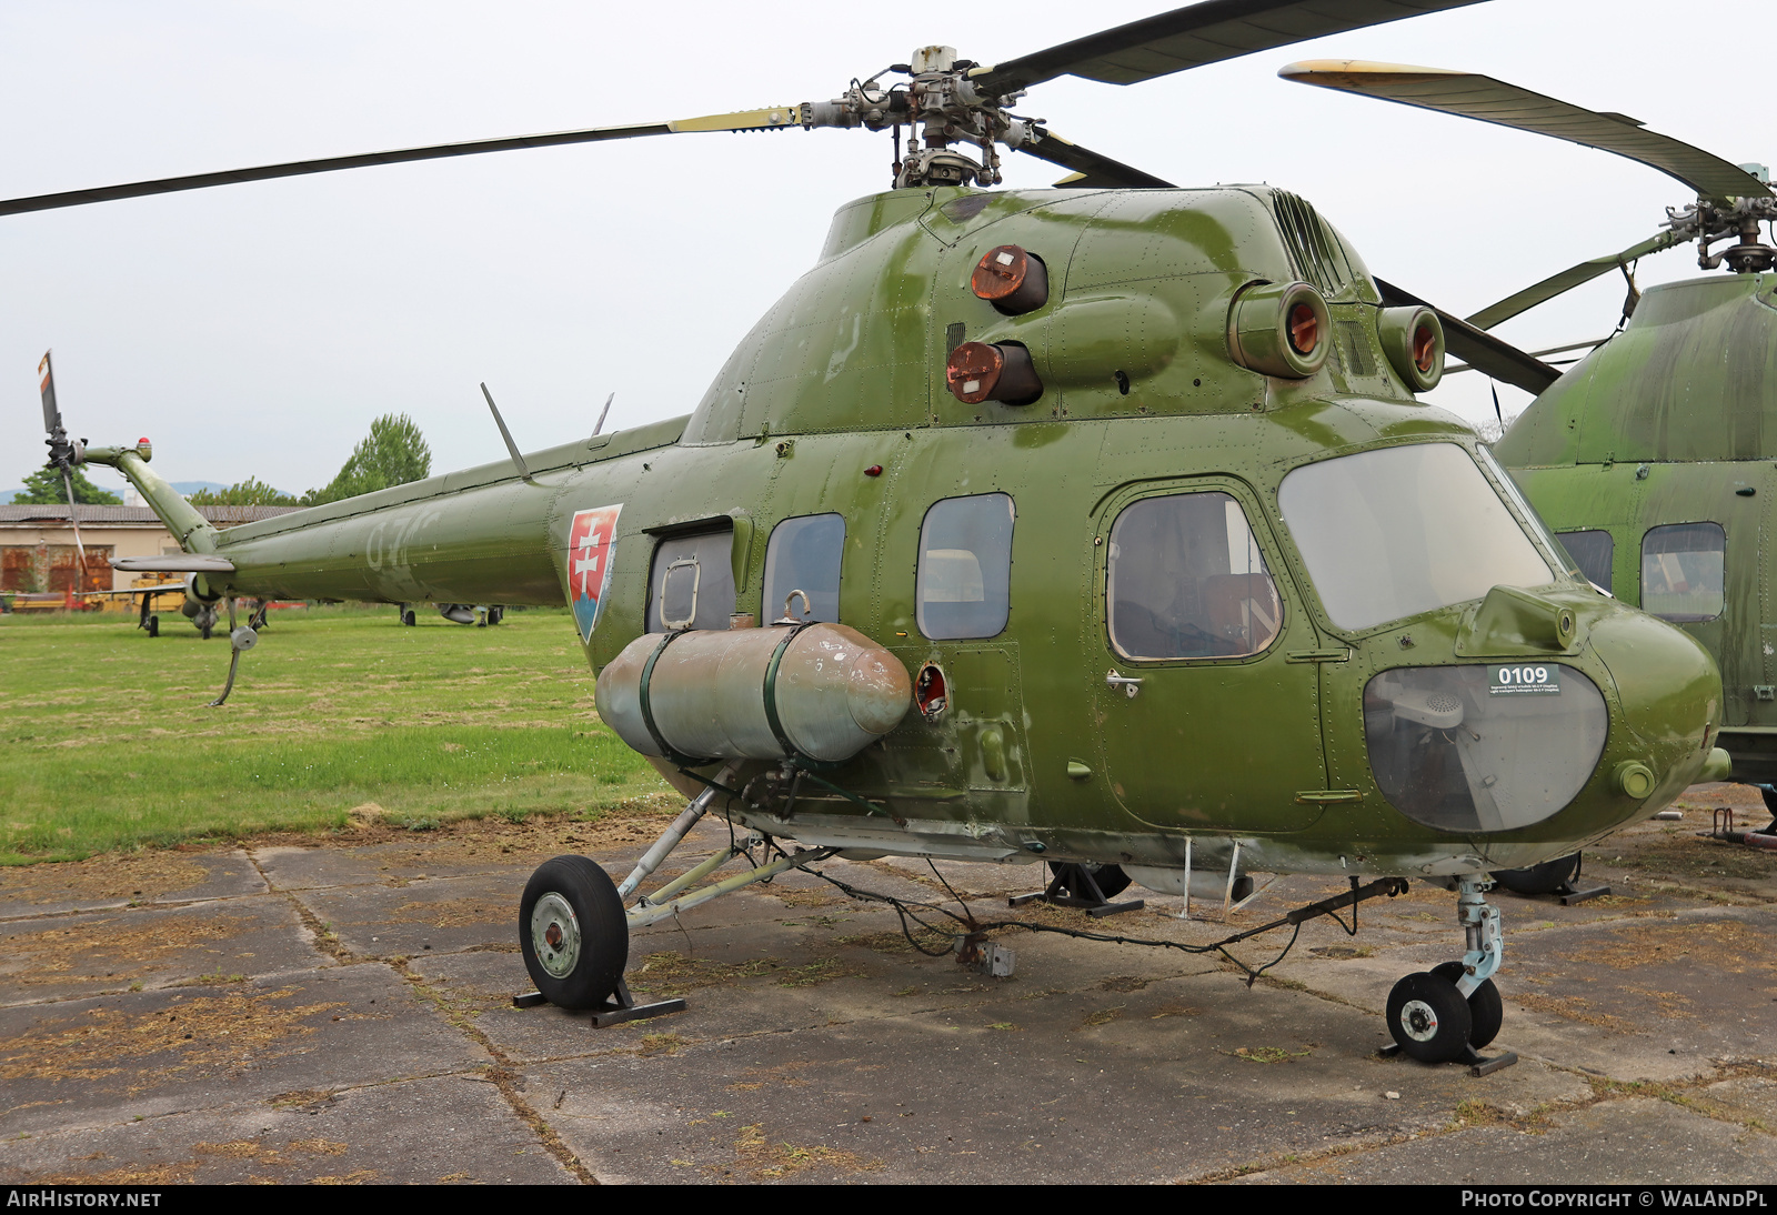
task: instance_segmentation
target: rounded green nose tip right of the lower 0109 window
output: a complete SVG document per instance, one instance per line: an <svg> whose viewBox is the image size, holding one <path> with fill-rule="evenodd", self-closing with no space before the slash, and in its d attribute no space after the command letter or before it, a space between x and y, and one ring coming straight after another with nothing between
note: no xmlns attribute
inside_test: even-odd
<svg viewBox="0 0 1777 1215"><path fill-rule="evenodd" d="M1665 805L1709 762L1722 725L1720 670L1688 632L1638 611L1594 622L1590 643L1621 703L1610 744L1619 792ZM1631 773L1635 764L1651 769L1651 787Z"/></svg>

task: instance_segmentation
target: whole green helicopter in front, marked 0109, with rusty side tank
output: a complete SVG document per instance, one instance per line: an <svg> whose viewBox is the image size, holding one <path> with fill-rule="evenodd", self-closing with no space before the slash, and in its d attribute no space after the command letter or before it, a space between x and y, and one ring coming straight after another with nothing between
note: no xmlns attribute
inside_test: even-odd
<svg viewBox="0 0 1777 1215"><path fill-rule="evenodd" d="M1725 773L1715 663L1599 593L1473 433L1414 398L1446 346L1553 369L1390 304L1297 195L1176 188L1009 112L1059 75L1130 83L1462 2L1212 0L997 66L929 46L832 101L0 202L906 128L894 188L839 210L688 416L508 439L494 464L227 533L147 451L52 433L52 460L123 471L210 602L572 608L604 723L689 801L620 883L583 856L533 874L538 1000L645 1012L633 927L835 854L1048 862L1075 902L1311 872L1352 878L1345 906L1402 879L1457 893L1466 952L1402 979L1388 1025L1416 1059L1478 1060L1502 1020L1489 870ZM986 190L1000 147L1073 176ZM233 638L238 659L254 632ZM641 893L705 814L734 846Z"/></svg>

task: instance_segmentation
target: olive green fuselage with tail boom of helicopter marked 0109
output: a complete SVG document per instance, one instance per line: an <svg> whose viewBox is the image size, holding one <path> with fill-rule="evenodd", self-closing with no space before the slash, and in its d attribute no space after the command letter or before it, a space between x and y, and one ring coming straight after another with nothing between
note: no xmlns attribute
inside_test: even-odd
<svg viewBox="0 0 1777 1215"><path fill-rule="evenodd" d="M968 288L977 259L1006 243L1048 268L1048 302L1024 316ZM1326 297L1333 353L1308 378L1230 359L1230 302L1255 281L1306 281ZM821 263L689 417L530 455L528 480L498 462L233 529L215 552L235 574L208 576L210 590L562 604L578 593L576 513L620 506L586 639L599 668L649 631L663 536L725 536L734 609L769 622L784 611L762 599L773 528L837 513L839 620L910 671L936 664L947 702L825 773L888 814L816 790L784 819L741 812L761 830L860 851L1169 869L1192 837L1199 865L1226 863L1239 842L1255 869L1409 876L1569 853L1697 776L1720 725L1715 666L1681 632L1566 576L1532 588L1532 615L1573 623L1553 641L1500 625L1478 600L1361 631L1329 620L1279 510L1283 478L1377 448L1475 453L1473 435L1390 368L1377 311L1338 234L1269 188L876 195L839 213ZM1041 398L961 403L944 380L961 341L1022 343ZM1251 655L1123 657L1107 629L1112 522L1196 490L1246 515L1281 627ZM1006 494L1015 512L1006 623L929 639L915 602L922 520L981 494ZM1530 826L1423 826L1377 787L1365 687L1390 668L1489 659L1558 663L1596 684L1601 758L1566 808ZM1107 675L1141 679L1137 695ZM1622 764L1653 783L1622 792Z"/></svg>

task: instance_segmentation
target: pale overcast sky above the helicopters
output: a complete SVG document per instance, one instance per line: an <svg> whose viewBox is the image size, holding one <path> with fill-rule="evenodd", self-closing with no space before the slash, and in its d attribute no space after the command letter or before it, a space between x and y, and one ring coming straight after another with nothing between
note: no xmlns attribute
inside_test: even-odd
<svg viewBox="0 0 1777 1215"><path fill-rule="evenodd" d="M992 62L1160 11L1018 5L153 4L0 7L0 197L410 144L823 99L926 43ZM920 16L924 12L924 16ZM1013 16L1015 14L1015 16ZM1464 68L1619 110L1733 162L1777 158L1768 4L1489 0L1143 85L1063 78L1018 108L1183 185L1311 199L1383 277L1471 313L1656 231L1676 181L1534 135L1276 78L1308 57ZM332 478L407 412L434 469L688 412L812 265L832 211L887 187L888 137L681 135L361 169L0 220L0 488L41 464L37 359L94 442L169 480ZM1057 171L1008 158L1009 183ZM1699 274L1693 250L1642 284ZM1502 327L1603 336L1608 277ZM1528 400L1510 387L1507 412ZM1487 382L1432 400L1491 416ZM101 483L114 480L103 471Z"/></svg>

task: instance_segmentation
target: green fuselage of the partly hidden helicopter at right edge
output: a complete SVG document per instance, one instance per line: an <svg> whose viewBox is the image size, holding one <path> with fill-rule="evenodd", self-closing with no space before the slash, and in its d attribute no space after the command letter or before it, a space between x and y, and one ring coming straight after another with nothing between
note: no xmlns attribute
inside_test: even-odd
<svg viewBox="0 0 1777 1215"><path fill-rule="evenodd" d="M1610 535L1592 576L1622 602L1661 606L1644 604L1654 529L1722 529L1720 602L1677 627L1720 664L1733 774L1777 782L1777 275L1651 288L1494 453L1550 528Z"/></svg>

